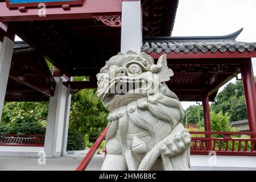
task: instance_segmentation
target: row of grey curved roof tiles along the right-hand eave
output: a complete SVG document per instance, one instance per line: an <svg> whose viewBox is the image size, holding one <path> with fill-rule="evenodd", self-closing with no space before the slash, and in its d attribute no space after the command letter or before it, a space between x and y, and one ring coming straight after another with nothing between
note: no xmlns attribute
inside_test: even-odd
<svg viewBox="0 0 256 182"><path fill-rule="evenodd" d="M142 51L151 53L161 52L184 52L184 53L197 53L203 52L253 52L256 50L256 43L237 42L236 40L221 40L221 41L189 41L189 42L145 42L142 47Z"/></svg>

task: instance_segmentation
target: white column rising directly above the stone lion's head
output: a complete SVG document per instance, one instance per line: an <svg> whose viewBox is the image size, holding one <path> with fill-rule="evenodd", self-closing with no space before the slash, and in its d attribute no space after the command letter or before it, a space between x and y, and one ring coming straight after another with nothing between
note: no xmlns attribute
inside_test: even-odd
<svg viewBox="0 0 256 182"><path fill-rule="evenodd" d="M122 2L121 52L141 53L142 10L141 1Z"/></svg>

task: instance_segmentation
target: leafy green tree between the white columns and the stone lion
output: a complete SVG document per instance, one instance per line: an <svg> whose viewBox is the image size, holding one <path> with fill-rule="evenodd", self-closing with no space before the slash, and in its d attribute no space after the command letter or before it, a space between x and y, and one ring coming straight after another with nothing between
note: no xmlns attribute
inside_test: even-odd
<svg viewBox="0 0 256 182"><path fill-rule="evenodd" d="M108 123L108 110L96 96L96 89L85 89L72 95L69 126L94 142Z"/></svg>

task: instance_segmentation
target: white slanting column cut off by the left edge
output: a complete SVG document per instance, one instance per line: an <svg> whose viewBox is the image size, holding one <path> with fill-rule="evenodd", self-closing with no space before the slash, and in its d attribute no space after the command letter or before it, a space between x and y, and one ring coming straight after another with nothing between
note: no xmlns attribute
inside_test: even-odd
<svg viewBox="0 0 256 182"><path fill-rule="evenodd" d="M0 42L0 122L5 103L5 94L7 82L11 67L11 58L13 57L14 42L5 36L3 42Z"/></svg>

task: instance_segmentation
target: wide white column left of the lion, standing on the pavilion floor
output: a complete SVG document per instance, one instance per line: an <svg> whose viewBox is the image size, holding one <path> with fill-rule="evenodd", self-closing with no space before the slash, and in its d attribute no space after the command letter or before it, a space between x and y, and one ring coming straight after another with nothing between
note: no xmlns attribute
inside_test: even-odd
<svg viewBox="0 0 256 182"><path fill-rule="evenodd" d="M56 89L54 96L49 100L49 109L47 117L46 139L44 142L44 151L47 158L61 156L63 149L63 135L65 135L65 115L67 113L67 86L63 85L63 78L54 77ZM65 127L64 127L65 126Z"/></svg>

